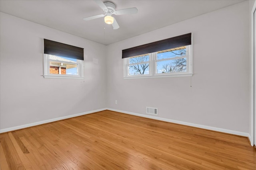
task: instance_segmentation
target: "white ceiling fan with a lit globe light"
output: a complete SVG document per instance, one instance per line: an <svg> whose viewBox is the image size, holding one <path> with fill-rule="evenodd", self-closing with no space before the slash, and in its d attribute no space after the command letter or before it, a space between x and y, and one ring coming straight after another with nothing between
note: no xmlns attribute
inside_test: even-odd
<svg viewBox="0 0 256 170"><path fill-rule="evenodd" d="M105 12L105 14L100 14L96 16L90 16L84 18L85 21L93 20L96 18L104 17L104 21L107 24L112 24L114 29L118 29L119 25L114 17L112 17L112 14L114 15L124 15L124 14L136 14L138 12L137 8L127 8L122 10L116 10L116 6L114 3L106 1L102 2L101 0L94 0L100 8Z"/></svg>

